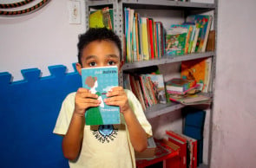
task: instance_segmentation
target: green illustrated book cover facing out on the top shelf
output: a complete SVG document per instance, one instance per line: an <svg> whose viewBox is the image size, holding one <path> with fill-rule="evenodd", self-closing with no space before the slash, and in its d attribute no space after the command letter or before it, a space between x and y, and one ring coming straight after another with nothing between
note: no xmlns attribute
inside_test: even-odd
<svg viewBox="0 0 256 168"><path fill-rule="evenodd" d="M187 40L187 28L173 27L167 29L166 54L184 55Z"/></svg>

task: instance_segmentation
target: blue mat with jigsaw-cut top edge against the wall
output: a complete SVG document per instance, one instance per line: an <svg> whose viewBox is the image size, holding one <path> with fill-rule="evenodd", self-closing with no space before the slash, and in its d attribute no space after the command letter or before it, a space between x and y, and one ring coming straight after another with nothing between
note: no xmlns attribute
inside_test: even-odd
<svg viewBox="0 0 256 168"><path fill-rule="evenodd" d="M81 87L76 69L66 70L50 66L50 75L40 77L38 68L23 69L24 80L15 82L0 73L1 167L69 167L62 137L52 133L62 100Z"/></svg>

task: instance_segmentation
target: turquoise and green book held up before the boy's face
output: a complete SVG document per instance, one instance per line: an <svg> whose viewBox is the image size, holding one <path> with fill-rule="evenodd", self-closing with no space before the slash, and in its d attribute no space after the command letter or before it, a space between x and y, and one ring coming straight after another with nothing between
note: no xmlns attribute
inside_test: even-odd
<svg viewBox="0 0 256 168"><path fill-rule="evenodd" d="M104 103L106 94L112 87L118 86L118 68L99 67L82 68L82 87L99 96L102 103L99 107L90 107L85 113L86 125L120 124L119 107L108 106Z"/></svg>

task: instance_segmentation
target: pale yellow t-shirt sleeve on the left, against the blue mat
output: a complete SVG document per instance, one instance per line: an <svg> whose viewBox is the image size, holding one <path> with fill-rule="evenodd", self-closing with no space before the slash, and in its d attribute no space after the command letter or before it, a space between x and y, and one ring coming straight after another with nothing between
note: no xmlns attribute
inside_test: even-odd
<svg viewBox="0 0 256 168"><path fill-rule="evenodd" d="M64 135L68 132L69 123L72 118L75 109L75 93L69 94L62 102L62 107L58 118L56 120L56 126L54 133Z"/></svg>

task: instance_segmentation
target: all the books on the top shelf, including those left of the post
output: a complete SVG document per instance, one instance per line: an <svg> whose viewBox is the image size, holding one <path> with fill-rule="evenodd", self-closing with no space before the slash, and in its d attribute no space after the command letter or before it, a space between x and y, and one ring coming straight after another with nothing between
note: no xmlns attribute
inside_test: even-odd
<svg viewBox="0 0 256 168"><path fill-rule="evenodd" d="M124 9L124 57L127 62L147 61L162 55L185 55L207 50L213 16L187 16L186 22L164 29L161 22ZM89 27L113 29L113 10L90 11ZM214 37L214 34L213 34ZM214 42L212 42L214 44ZM211 49L213 50L213 49Z"/></svg>

